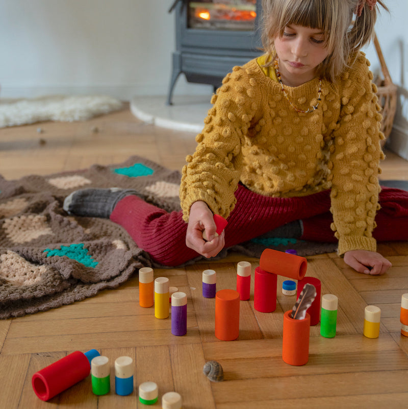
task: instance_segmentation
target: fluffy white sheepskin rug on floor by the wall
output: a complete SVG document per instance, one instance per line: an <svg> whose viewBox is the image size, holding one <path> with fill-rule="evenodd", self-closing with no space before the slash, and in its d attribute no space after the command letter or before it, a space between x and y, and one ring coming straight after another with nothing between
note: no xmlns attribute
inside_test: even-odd
<svg viewBox="0 0 408 409"><path fill-rule="evenodd" d="M43 121L86 121L121 108L119 100L107 96L53 95L29 100L0 100L0 128Z"/></svg>

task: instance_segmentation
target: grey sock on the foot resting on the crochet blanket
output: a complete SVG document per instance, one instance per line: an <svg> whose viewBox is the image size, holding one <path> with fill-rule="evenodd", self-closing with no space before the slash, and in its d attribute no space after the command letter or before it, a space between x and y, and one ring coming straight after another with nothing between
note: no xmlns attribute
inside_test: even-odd
<svg viewBox="0 0 408 409"><path fill-rule="evenodd" d="M108 219L119 200L129 195L142 197L136 190L89 188L73 191L64 200L68 214Z"/></svg>

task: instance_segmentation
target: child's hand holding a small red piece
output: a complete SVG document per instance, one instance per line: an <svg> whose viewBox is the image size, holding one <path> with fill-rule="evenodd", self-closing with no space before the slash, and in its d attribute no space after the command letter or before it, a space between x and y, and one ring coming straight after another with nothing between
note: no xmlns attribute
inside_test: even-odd
<svg viewBox="0 0 408 409"><path fill-rule="evenodd" d="M216 232L213 212L207 203L194 202L190 208L190 217L187 226L186 245L190 249L204 257L216 256L224 247L224 232L219 236L214 236ZM206 230L207 242L202 238L202 232Z"/></svg>

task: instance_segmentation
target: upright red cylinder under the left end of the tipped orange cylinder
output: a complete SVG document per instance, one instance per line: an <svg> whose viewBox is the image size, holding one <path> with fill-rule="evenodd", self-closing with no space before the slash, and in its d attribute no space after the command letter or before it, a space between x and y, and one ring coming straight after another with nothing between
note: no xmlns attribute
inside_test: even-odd
<svg viewBox="0 0 408 409"><path fill-rule="evenodd" d="M267 273L260 267L255 269L253 306L260 312L276 309L276 274Z"/></svg>

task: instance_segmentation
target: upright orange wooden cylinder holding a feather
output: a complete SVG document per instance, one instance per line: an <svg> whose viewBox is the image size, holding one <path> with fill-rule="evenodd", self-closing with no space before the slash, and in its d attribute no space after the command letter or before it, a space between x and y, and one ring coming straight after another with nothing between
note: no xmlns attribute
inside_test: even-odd
<svg viewBox="0 0 408 409"><path fill-rule="evenodd" d="M290 317L292 310L284 314L282 358L289 364L301 366L309 360L310 315L303 320Z"/></svg>

